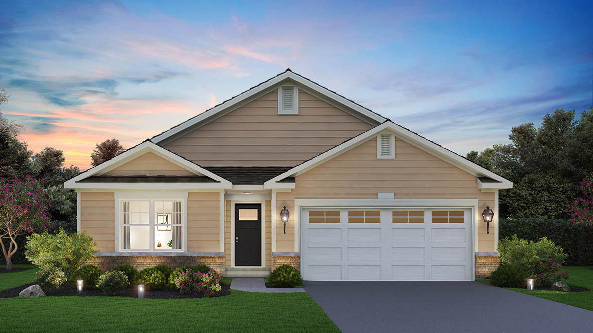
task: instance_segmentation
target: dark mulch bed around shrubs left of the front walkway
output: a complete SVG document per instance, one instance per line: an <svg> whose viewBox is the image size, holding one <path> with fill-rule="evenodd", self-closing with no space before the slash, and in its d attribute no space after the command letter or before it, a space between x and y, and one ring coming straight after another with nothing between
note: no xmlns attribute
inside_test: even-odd
<svg viewBox="0 0 593 333"><path fill-rule="evenodd" d="M25 284L24 286L16 287L14 289L4 290L4 292L0 292L0 298L13 298L18 297L18 293L22 292L29 286L33 284ZM229 295L229 289L231 286L226 286L221 284L221 291L218 293L218 296L227 296ZM75 286L67 285L62 286L56 290L43 290L46 296L78 296L77 290ZM109 296L105 295L101 290L98 289L85 289L84 293L81 297L92 297L92 296ZM138 288L127 288L121 294L116 295L120 297L129 297L129 298L138 298ZM177 289L164 289L164 290L146 290L144 292L144 298L153 298L153 299L182 299L182 298L203 298L203 295L181 295L179 290Z"/></svg>

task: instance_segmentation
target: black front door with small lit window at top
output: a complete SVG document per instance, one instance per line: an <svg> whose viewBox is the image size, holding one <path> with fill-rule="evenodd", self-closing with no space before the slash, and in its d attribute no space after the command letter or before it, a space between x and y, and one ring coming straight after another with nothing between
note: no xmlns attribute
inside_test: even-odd
<svg viewBox="0 0 593 333"><path fill-rule="evenodd" d="M262 266L262 205L235 205L235 266Z"/></svg>

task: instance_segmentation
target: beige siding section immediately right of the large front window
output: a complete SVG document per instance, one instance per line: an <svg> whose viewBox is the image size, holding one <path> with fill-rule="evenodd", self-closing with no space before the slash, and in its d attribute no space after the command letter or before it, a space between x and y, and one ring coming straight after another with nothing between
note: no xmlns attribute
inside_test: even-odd
<svg viewBox="0 0 593 333"><path fill-rule="evenodd" d="M187 251L220 252L221 193L189 193Z"/></svg>

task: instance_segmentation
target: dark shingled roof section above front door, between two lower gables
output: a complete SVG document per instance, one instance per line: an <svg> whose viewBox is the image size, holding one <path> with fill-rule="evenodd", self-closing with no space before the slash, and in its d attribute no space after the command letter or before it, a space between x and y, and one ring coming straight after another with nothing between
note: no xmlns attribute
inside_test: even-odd
<svg viewBox="0 0 593 333"><path fill-rule="evenodd" d="M204 169L221 176L234 185L262 185L267 180L285 173L292 167L205 167ZM283 183L294 183L294 178L286 178Z"/></svg>

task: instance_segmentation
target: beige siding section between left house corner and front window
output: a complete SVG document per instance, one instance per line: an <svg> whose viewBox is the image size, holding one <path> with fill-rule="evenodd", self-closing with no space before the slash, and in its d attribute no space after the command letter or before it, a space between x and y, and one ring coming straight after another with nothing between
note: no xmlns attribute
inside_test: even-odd
<svg viewBox="0 0 593 333"><path fill-rule="evenodd" d="M115 196L113 192L80 193L80 227L101 252L115 251Z"/></svg>

